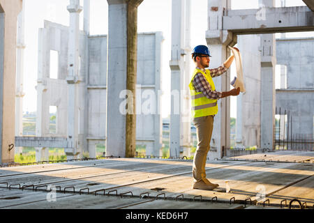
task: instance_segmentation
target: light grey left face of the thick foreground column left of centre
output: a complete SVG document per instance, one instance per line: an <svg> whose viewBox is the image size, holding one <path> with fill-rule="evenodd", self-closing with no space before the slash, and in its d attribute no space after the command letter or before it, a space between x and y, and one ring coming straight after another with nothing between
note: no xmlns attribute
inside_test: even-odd
<svg viewBox="0 0 314 223"><path fill-rule="evenodd" d="M126 116L119 112L119 94L126 89L127 3L108 1L108 72L106 156L126 155ZM119 61L119 63L117 63ZM111 87L112 86L112 87Z"/></svg>

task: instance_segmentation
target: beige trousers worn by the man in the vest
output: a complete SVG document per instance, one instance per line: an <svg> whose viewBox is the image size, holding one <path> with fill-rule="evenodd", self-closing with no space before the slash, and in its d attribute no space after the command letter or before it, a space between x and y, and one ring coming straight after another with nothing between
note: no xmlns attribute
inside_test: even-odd
<svg viewBox="0 0 314 223"><path fill-rule="evenodd" d="M206 178L205 165L213 132L214 116L193 118L193 123L197 134L197 148L193 160L193 178L194 182L197 182Z"/></svg>

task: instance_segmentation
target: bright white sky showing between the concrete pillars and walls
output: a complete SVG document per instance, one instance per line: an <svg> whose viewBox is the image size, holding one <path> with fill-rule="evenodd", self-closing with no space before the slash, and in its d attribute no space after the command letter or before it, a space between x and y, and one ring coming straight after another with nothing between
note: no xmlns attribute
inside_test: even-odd
<svg viewBox="0 0 314 223"><path fill-rule="evenodd" d="M24 93L23 112L36 112L37 92L35 89L38 70L38 29L43 28L44 20L68 26L69 13L66 6L69 0L24 0L25 33L24 42ZM84 1L80 0L81 6ZM281 0L276 0L279 7ZM305 6L301 0L286 0L286 6ZM232 0L232 9L259 8L257 0ZM84 9L83 9L84 10ZM80 13L80 29L83 29L83 14ZM207 45L207 0L193 0L191 6L191 47ZM108 6L106 0L91 0L90 35L107 34ZM144 0L138 7L137 31L162 31L162 116L170 114L170 53L171 53L171 0ZM313 36L313 32L287 33L287 37ZM211 58L211 59L214 59ZM209 65L209 68L211 66ZM235 75L232 63L231 77ZM278 69L276 69L278 70ZM278 82L276 82L278 84ZM231 107L237 107L237 97L231 98ZM237 109L232 109L230 116L237 116Z"/></svg>

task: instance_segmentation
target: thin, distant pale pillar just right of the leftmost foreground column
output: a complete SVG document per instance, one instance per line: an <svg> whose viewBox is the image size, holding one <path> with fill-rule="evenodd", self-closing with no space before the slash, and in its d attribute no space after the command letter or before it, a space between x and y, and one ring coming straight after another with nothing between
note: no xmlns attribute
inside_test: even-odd
<svg viewBox="0 0 314 223"><path fill-rule="evenodd" d="M21 137L23 134L23 66L24 66L24 11L17 16L17 49L16 49L16 93L15 93L15 136ZM15 147L15 154L22 153L22 147Z"/></svg>

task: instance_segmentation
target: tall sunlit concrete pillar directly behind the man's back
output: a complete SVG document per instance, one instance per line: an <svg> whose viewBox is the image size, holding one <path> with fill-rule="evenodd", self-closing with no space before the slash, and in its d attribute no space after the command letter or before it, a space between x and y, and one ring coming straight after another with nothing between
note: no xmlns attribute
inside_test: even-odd
<svg viewBox="0 0 314 223"><path fill-rule="evenodd" d="M188 6L188 7L187 7ZM186 34L188 33L188 34ZM170 156L190 148L190 1L172 0ZM187 55L187 56L185 56ZM186 57L186 63L184 59Z"/></svg>

